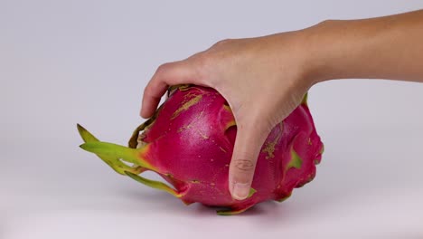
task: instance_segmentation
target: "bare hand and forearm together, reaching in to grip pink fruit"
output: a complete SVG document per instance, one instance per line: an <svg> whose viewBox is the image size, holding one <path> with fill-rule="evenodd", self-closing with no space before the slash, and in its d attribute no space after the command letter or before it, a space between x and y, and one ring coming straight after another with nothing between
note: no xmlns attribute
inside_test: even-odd
<svg viewBox="0 0 423 239"><path fill-rule="evenodd" d="M351 78L423 82L423 10L221 41L160 66L144 91L141 116L153 115L170 85L193 83L219 91L238 127L230 194L243 200L270 130L316 83Z"/></svg>

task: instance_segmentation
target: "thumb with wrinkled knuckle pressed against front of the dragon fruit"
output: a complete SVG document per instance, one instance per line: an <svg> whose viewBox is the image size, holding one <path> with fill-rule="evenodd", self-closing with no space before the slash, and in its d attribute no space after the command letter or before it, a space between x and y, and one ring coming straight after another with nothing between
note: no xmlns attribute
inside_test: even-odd
<svg viewBox="0 0 423 239"><path fill-rule="evenodd" d="M229 188L232 198L243 200L249 196L258 154L267 134L258 126L237 126L237 137L230 160Z"/></svg>

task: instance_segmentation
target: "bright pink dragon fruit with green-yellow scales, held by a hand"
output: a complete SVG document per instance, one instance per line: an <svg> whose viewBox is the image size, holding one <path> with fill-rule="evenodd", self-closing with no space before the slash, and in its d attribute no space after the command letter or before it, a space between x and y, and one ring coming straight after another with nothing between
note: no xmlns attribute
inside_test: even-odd
<svg viewBox="0 0 423 239"><path fill-rule="evenodd" d="M249 197L230 196L228 175L237 127L227 101L206 87L171 87L168 99L155 115L136 128L129 147L102 142L78 125L85 141L80 145L95 153L121 175L180 198L217 206L220 215L244 212L267 201L284 201L295 187L315 177L323 144L315 131L305 99L268 135L258 156ZM164 182L142 177L151 170Z"/></svg>

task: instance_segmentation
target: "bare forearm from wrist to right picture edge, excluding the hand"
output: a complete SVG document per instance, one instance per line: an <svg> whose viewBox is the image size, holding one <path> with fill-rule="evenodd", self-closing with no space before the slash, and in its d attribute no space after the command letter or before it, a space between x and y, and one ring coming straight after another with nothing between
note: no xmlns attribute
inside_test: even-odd
<svg viewBox="0 0 423 239"><path fill-rule="evenodd" d="M423 82L423 10L326 21L305 32L312 81L368 78Z"/></svg>

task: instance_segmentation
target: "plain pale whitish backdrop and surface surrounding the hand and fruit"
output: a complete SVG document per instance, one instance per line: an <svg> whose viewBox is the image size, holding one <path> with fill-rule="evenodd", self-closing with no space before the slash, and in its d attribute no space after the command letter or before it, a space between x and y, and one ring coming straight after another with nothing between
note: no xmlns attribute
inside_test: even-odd
<svg viewBox="0 0 423 239"><path fill-rule="evenodd" d="M317 177L237 216L183 206L80 150L77 122L127 142L163 62L225 38L423 7L258 2L0 0L0 238L423 238L423 84L316 85Z"/></svg>

